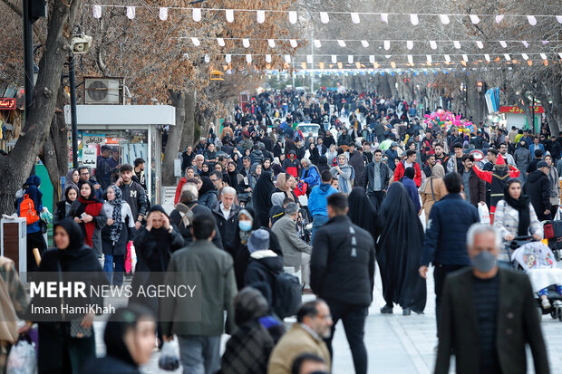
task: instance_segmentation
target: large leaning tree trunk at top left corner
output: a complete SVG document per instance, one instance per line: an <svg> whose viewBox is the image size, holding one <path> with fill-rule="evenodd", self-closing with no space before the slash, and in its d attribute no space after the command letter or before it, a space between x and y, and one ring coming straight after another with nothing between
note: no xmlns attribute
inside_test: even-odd
<svg viewBox="0 0 562 374"><path fill-rule="evenodd" d="M61 86L61 73L68 57L76 13L81 4L81 0L53 3L53 10L48 17L44 54L39 62L39 76L33 92L33 105L29 113L25 113L25 126L14 149L7 157L0 158L0 213L9 215L14 212L15 192L24 184L35 158L43 148L45 135L53 120L56 93Z"/></svg>

